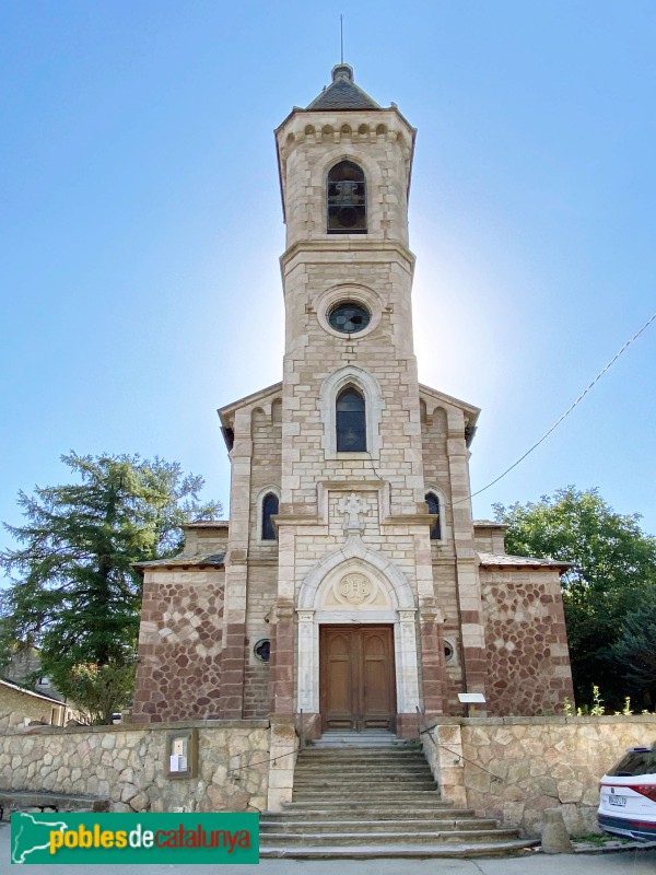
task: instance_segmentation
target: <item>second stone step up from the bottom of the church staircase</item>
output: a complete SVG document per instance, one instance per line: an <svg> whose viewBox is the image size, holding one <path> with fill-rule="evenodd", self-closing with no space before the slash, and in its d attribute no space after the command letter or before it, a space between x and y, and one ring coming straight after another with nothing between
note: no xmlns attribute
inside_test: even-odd
<svg viewBox="0 0 656 875"><path fill-rule="evenodd" d="M402 829L376 833L376 844L459 844L467 842L490 843L492 841L512 841L517 839L516 829L447 829L406 832ZM260 836L260 848L282 847L297 848L312 845L320 848L339 848L344 845L370 844L371 832L265 832Z"/></svg>

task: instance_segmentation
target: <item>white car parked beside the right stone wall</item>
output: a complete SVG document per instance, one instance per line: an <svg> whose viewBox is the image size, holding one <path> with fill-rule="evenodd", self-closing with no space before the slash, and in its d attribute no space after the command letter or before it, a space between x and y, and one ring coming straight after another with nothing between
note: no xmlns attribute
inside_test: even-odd
<svg viewBox="0 0 656 875"><path fill-rule="evenodd" d="M599 782L597 820L605 832L656 840L656 745L630 747Z"/></svg>

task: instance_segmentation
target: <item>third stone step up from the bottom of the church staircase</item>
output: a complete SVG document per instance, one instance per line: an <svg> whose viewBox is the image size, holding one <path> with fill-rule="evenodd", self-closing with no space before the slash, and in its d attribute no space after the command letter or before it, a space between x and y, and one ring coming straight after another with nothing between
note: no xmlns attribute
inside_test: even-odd
<svg viewBox="0 0 656 875"><path fill-rule="evenodd" d="M375 832L403 832L413 830L417 832L426 832L429 830L444 832L448 830L495 830L496 820L493 818L471 818L468 819L399 819L398 822L390 822L389 820L370 820L361 819L360 817L354 822L353 818L343 818L342 820L324 820L319 818L290 818L280 816L278 818L261 817L260 818L260 833L265 832L352 832L356 828L359 832L366 830L370 833Z"/></svg>

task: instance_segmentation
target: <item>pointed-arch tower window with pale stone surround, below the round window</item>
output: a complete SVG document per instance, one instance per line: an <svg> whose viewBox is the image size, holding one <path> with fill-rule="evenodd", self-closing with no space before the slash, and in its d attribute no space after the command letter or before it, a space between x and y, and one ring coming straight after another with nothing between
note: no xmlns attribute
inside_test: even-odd
<svg viewBox="0 0 656 875"><path fill-rule="evenodd" d="M344 453L362 453L379 458L383 393L378 381L355 365L348 365L326 377L319 392L326 458ZM351 430L355 432L353 439Z"/></svg>

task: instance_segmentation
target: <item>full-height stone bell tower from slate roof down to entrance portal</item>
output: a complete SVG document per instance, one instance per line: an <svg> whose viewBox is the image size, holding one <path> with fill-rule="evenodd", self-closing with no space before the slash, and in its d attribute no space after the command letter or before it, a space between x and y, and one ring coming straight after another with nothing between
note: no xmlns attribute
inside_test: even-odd
<svg viewBox="0 0 656 875"><path fill-rule="evenodd" d="M420 687L430 710L443 711L434 517L425 505L412 343L408 197L414 136L396 106L382 108L355 85L344 63L306 109L293 109L276 131L286 223L286 334L273 712L296 710L295 676L298 711L311 724L321 712L324 728L352 725L340 710L359 696L351 684L362 682L337 679L342 688L335 701L319 701L333 682L327 661L339 662L321 627L328 634L342 623L389 626L388 644L368 642L373 650L390 649L390 716L380 726L402 730L414 719ZM323 572L335 580L327 582ZM422 629L426 653L420 666ZM339 630L335 634L339 639ZM344 664L366 646L335 643ZM333 673L339 675L335 666ZM355 711L359 727L378 725L366 703Z"/></svg>

